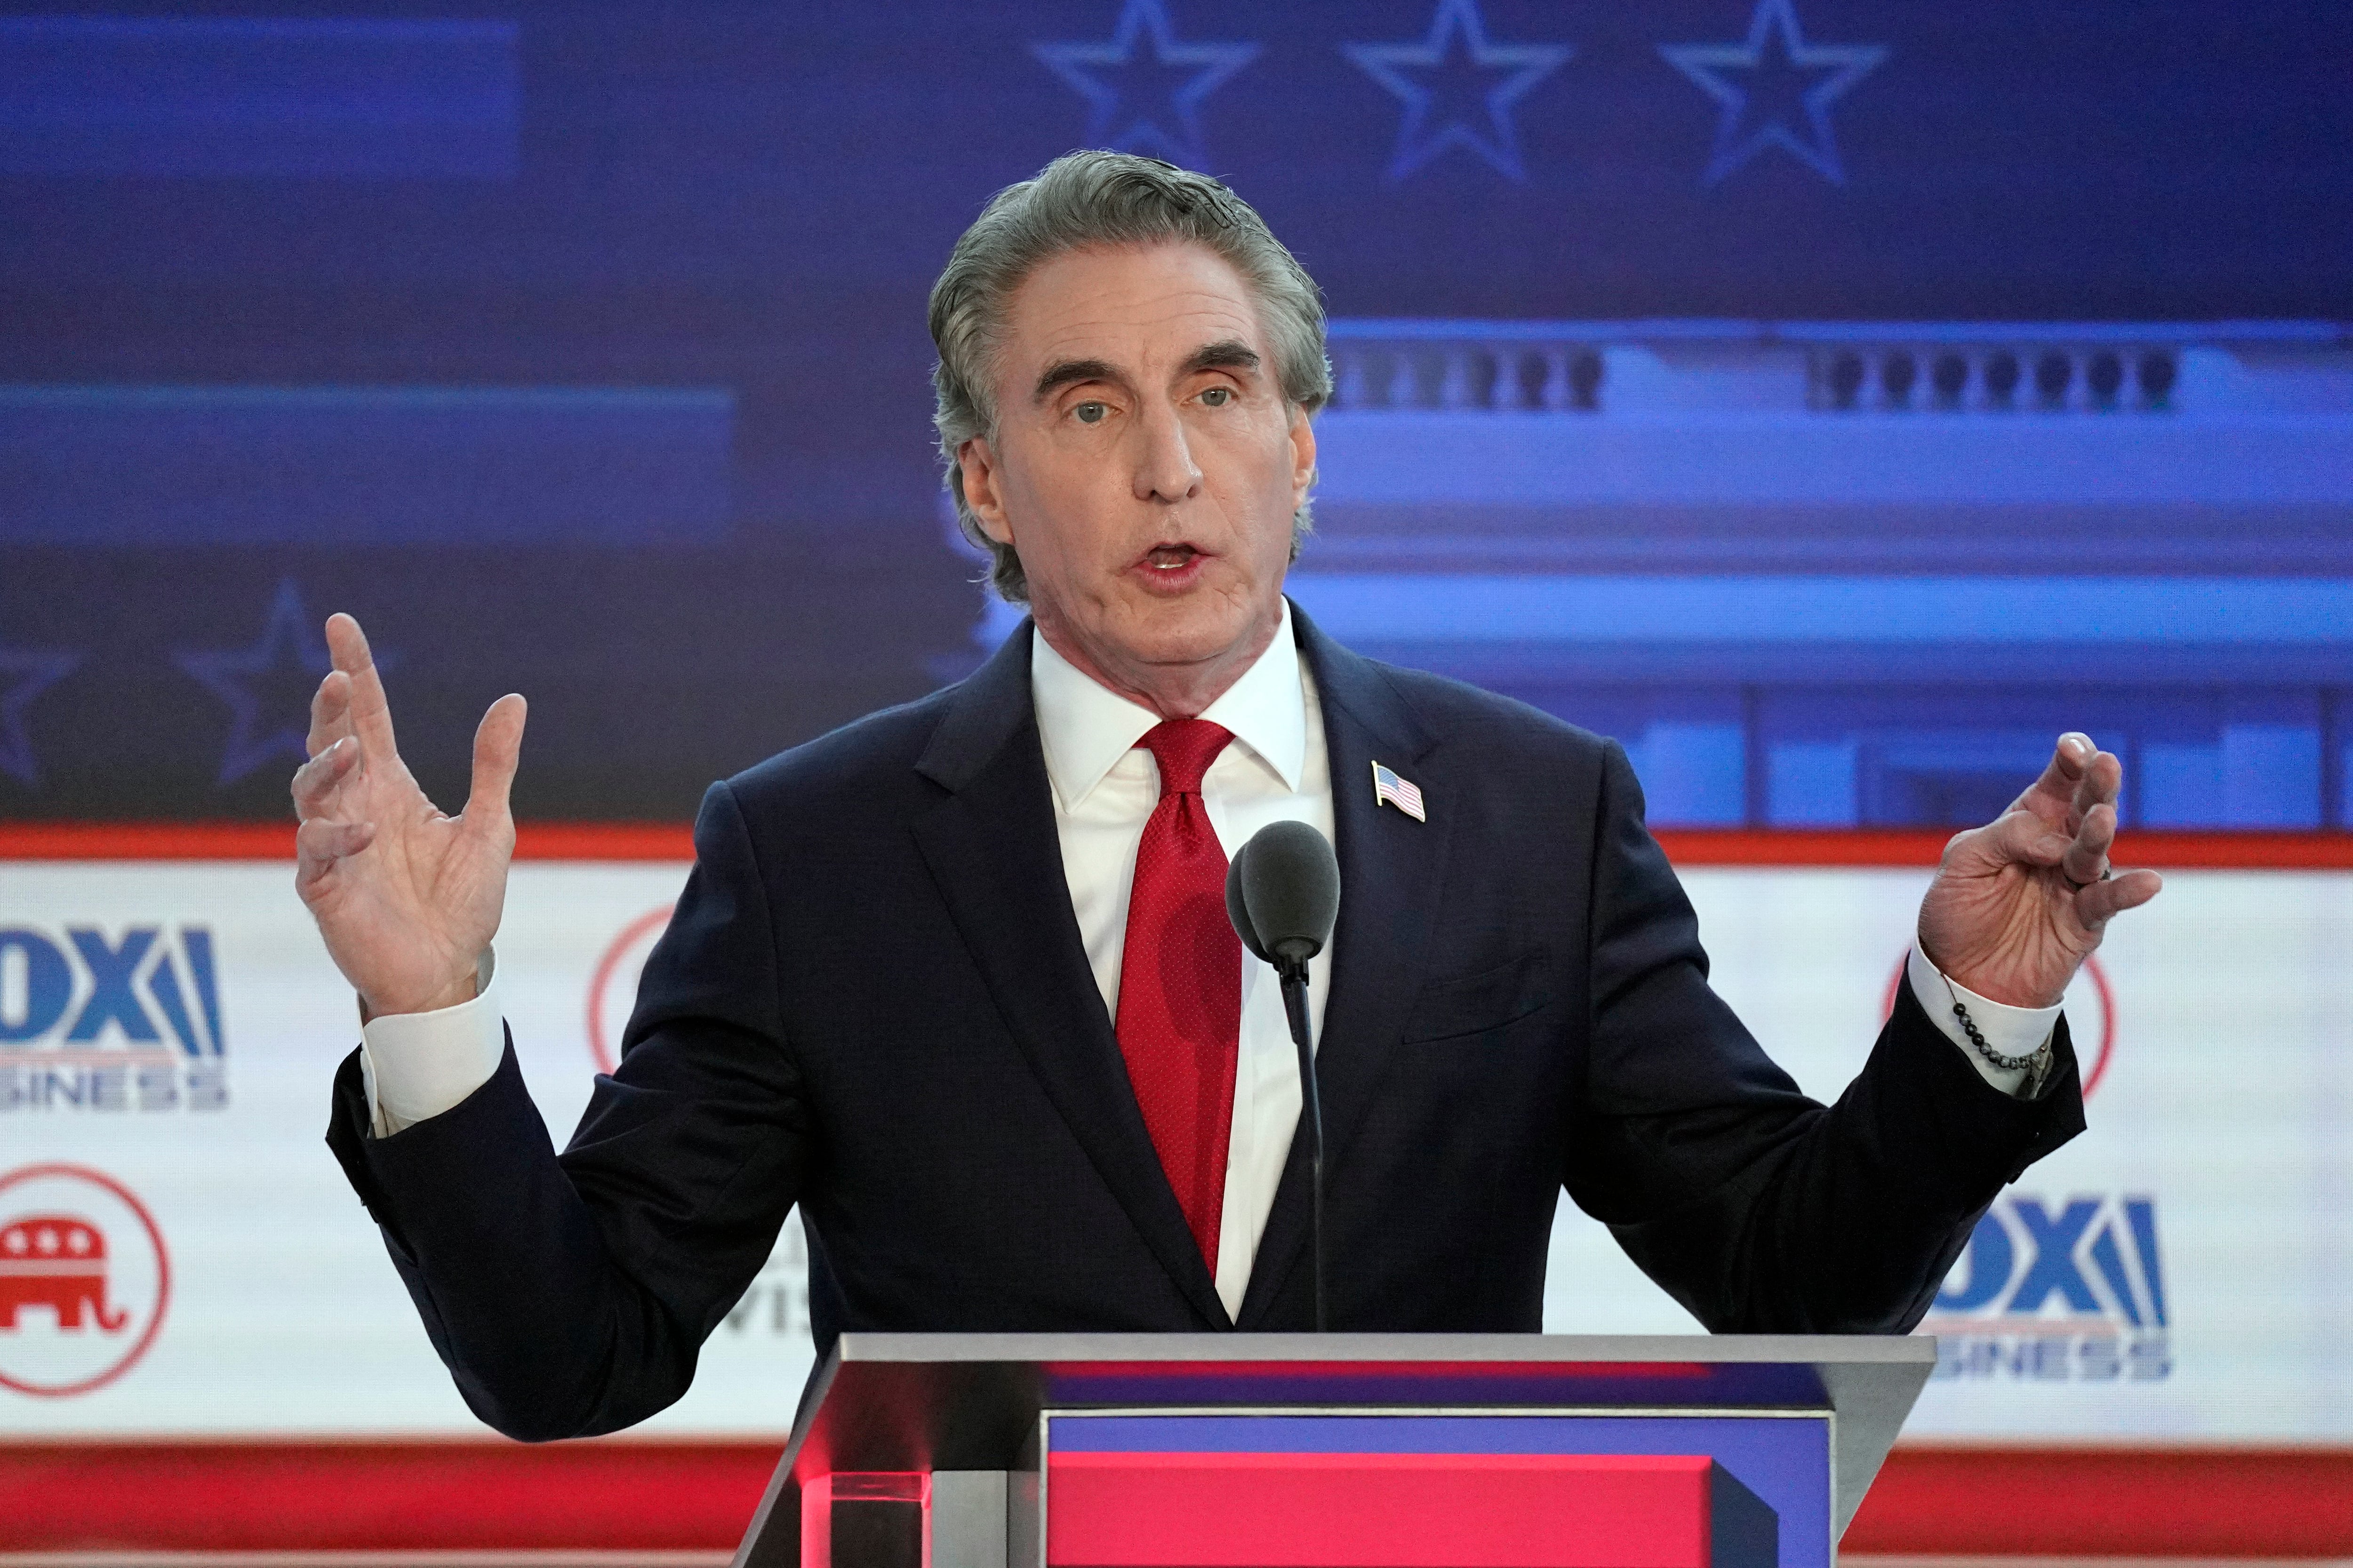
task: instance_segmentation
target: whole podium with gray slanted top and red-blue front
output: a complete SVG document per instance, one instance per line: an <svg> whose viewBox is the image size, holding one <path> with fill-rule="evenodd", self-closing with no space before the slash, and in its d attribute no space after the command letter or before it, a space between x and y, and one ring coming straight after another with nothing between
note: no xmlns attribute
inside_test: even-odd
<svg viewBox="0 0 2353 1568"><path fill-rule="evenodd" d="M842 1335L734 1568L1831 1568L1842 1335Z"/></svg>

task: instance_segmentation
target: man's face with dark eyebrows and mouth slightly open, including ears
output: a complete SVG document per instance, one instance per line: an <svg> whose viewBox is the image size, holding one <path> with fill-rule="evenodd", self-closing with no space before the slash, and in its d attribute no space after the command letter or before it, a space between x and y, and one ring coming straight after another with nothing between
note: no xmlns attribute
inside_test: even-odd
<svg viewBox="0 0 2353 1568"><path fill-rule="evenodd" d="M958 461L1038 625L1162 712L1207 703L1280 625L1315 473L1249 284L1202 244L1066 252L1014 292L995 371L995 440Z"/></svg>

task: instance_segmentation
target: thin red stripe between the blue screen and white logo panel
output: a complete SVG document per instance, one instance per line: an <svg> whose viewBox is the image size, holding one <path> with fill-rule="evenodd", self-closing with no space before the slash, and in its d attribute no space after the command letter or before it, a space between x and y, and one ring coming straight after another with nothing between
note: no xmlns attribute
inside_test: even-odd
<svg viewBox="0 0 2353 1568"><path fill-rule="evenodd" d="M1944 830L1661 827L1675 865L1937 865ZM292 860L294 823L0 823L0 860ZM520 860L692 860L687 823L525 823ZM2127 832L2162 870L2353 870L2353 832Z"/></svg>

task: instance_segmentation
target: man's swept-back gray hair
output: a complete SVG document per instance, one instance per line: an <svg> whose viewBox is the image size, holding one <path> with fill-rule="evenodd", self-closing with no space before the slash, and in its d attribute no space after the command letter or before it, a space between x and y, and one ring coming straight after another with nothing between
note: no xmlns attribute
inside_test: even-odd
<svg viewBox="0 0 2353 1568"><path fill-rule="evenodd" d="M993 557L988 585L1009 604L1028 602L1028 576L1014 548L981 529L965 501L965 473L955 454L972 437L995 440L995 350L1014 289L1038 263L1064 252L1160 242L1207 244L1242 275L1257 294L1259 324L1289 407L1313 414L1332 397L1315 280L1282 249L1266 219L1221 181L1158 158L1066 153L1040 169L1038 179L998 190L932 284L932 343L939 348L932 425L939 430L939 456L955 496L955 522L965 538ZM1294 559L1308 527L1308 505L1301 503L1292 517Z"/></svg>

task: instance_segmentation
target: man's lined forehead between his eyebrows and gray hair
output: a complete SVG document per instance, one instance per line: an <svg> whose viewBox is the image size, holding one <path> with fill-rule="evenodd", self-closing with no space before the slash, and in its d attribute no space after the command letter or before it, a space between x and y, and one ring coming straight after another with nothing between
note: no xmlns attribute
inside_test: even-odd
<svg viewBox="0 0 2353 1568"><path fill-rule="evenodd" d="M1096 244L1031 268L998 343L998 376L1021 393L1064 360L1101 360L1153 378L1209 343L1266 355L1257 296L1231 261L1198 242Z"/></svg>

